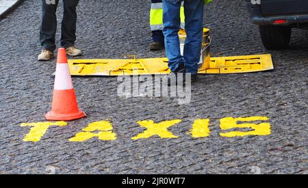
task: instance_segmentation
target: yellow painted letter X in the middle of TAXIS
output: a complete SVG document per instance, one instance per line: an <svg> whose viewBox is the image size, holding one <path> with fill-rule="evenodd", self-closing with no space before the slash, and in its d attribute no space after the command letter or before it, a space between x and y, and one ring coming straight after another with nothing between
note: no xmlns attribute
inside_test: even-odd
<svg viewBox="0 0 308 188"><path fill-rule="evenodd" d="M137 123L140 124L141 127L146 128L144 132L138 134L136 137L132 137L131 139L137 140L137 139L147 139L149 137L152 137L154 135L159 136L162 139L170 138L175 139L178 138L172 132L169 132L167 129L170 126L173 126L175 124L179 124L181 122L181 119L174 119L170 121L162 121L157 124L154 123L154 121L138 121Z"/></svg>

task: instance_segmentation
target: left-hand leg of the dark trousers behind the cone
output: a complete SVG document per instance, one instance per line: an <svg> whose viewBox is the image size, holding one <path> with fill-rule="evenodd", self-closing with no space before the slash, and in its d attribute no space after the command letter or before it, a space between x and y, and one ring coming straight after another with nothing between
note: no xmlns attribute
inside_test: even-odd
<svg viewBox="0 0 308 188"><path fill-rule="evenodd" d="M57 19L55 12L57 4L49 3L49 1L42 0L42 23L40 27L40 44L43 49L55 51L55 32L57 30Z"/></svg>

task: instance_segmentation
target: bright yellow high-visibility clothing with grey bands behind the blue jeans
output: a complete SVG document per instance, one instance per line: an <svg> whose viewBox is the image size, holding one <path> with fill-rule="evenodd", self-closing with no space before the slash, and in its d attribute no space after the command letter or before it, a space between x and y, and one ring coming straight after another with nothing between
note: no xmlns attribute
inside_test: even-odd
<svg viewBox="0 0 308 188"><path fill-rule="evenodd" d="M180 11L181 16L181 28L185 28L185 15L183 3ZM151 12L150 12L150 25L152 31L163 30L163 8L162 3L151 3Z"/></svg>

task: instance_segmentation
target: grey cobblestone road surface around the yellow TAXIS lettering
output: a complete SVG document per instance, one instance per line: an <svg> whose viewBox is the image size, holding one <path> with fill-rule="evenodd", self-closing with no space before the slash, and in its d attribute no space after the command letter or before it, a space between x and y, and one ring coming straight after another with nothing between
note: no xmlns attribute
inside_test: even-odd
<svg viewBox="0 0 308 188"><path fill-rule="evenodd" d="M83 58L164 57L164 51L149 51L149 8L144 0L81 1L77 46L84 49ZM55 71L55 60L36 60L40 1L25 1L1 20L0 173L307 174L308 32L294 30L290 49L267 51L243 1L220 0L205 9L211 56L270 53L274 71L203 75L192 86L192 102L184 106L170 97L118 97L113 77L74 77L79 106L88 117L49 128L36 143L23 141L29 127L21 123L45 121ZM59 19L61 12L60 6ZM220 137L219 119L251 116L269 117L272 133ZM193 139L187 132L199 118L211 119L211 134ZM68 141L104 119L112 121L116 140ZM169 128L179 138L132 140L145 130L136 122L146 119L182 119Z"/></svg>

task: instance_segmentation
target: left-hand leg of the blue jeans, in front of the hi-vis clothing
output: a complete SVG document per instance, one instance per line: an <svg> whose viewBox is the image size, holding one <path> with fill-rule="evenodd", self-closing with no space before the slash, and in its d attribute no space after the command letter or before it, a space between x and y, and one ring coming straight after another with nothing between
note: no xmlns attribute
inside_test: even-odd
<svg viewBox="0 0 308 188"><path fill-rule="evenodd" d="M179 64L185 64L183 56L181 56L179 45L179 28L181 25L180 9L181 1L178 3L170 3L163 1L164 9L164 36L166 56L169 60L168 67L172 72L177 71Z"/></svg>

